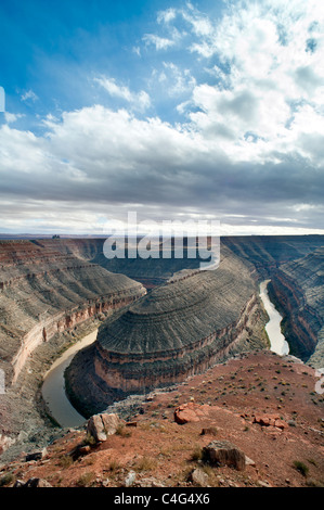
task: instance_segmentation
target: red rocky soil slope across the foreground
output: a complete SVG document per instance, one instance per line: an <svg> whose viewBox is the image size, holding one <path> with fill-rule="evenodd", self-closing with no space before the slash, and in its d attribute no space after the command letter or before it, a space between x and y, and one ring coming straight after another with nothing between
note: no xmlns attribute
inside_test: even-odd
<svg viewBox="0 0 324 510"><path fill-rule="evenodd" d="M40 477L61 487L191 486L190 473L198 468L208 486L323 486L323 395L316 381L313 369L270 352L235 358L172 392L155 393L132 423L82 448L75 460L68 454L85 442L83 430L57 439L42 460L21 457L2 467L0 483ZM244 471L200 459L215 439L244 451Z"/></svg>

